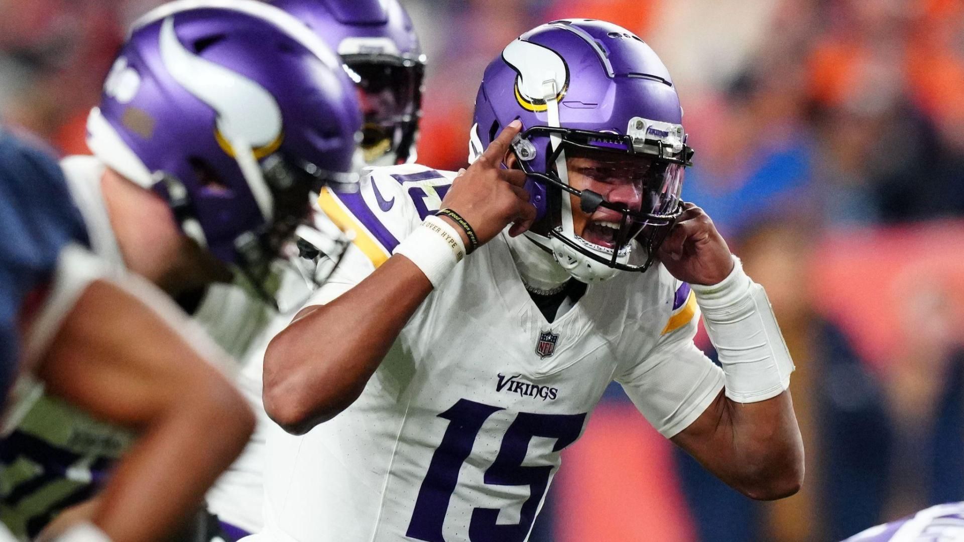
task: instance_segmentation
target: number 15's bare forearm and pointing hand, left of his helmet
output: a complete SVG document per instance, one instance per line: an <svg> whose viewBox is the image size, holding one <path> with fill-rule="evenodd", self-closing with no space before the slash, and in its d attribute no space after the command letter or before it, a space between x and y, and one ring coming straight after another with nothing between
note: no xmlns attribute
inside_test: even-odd
<svg viewBox="0 0 964 542"><path fill-rule="evenodd" d="M515 223L514 234L521 233L535 218L535 208L522 190L525 174L500 167L521 126L515 122L503 129L466 173L455 178L442 201L443 208L456 210L469 222L479 244L510 223ZM446 221L453 234L461 236L462 247L468 246L468 236L454 222L434 218ZM395 256L348 291L299 312L268 345L264 406L286 431L305 433L355 402L406 322L432 291L433 282L447 273L439 272L442 266L434 263L436 255L427 251L438 249L442 254L451 249L435 233L417 234L423 237L412 233L395 250Z"/></svg>

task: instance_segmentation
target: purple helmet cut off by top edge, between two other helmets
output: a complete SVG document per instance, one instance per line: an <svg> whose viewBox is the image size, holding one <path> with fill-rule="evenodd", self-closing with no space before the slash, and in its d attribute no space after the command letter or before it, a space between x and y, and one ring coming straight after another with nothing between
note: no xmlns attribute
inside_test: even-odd
<svg viewBox="0 0 964 542"><path fill-rule="evenodd" d="M359 89L370 165L415 161L425 55L398 0L273 0L341 55Z"/></svg>

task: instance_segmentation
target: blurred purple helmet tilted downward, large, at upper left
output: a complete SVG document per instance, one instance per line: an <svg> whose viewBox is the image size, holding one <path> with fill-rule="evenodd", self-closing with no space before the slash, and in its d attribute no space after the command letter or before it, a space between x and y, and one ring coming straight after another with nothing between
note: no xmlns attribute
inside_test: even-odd
<svg viewBox="0 0 964 542"><path fill-rule="evenodd" d="M304 227L309 194L357 179L361 126L337 56L297 19L255 0L191 0L134 24L88 144L258 283Z"/></svg>

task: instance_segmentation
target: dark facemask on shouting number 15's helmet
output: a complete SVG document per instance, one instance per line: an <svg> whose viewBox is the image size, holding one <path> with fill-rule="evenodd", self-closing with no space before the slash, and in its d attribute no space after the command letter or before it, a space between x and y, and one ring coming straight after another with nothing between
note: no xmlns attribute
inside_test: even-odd
<svg viewBox="0 0 964 542"><path fill-rule="evenodd" d="M661 122L634 120L641 128L655 131L658 139L642 134L619 135L609 132L585 131L550 126L533 126L515 140L515 153L522 171L538 183L556 190L549 191L550 246L556 259L570 270L576 279L593 282L611 278L616 270L642 272L655 260L663 238L682 212L680 193L683 168L690 165L692 149L683 143L682 126L663 125ZM657 126L654 128L654 126ZM663 129L667 128L667 129ZM680 144L667 143L672 129L680 134ZM630 134L632 130L630 129ZM642 135L642 137L638 137ZM668 134L667 134L668 135ZM536 171L537 143L543 143L546 173ZM566 158L588 158L598 164L592 168L606 184L626 184L631 188L638 205L629 208L625 203L606 201L603 194L590 189L579 190L570 183ZM604 177L604 178L603 178ZM611 182L607 182L611 181ZM553 195L558 194L558 198ZM618 213L618 224L606 242L593 242L576 234L573 201L584 215L592 215L601 207ZM586 228L593 227L587 223ZM586 230L582 230L583 233ZM597 229L594 232L599 232ZM599 235L587 235L600 241ZM642 264L629 263L631 243L637 240L644 250ZM602 267L601 265L602 264Z"/></svg>

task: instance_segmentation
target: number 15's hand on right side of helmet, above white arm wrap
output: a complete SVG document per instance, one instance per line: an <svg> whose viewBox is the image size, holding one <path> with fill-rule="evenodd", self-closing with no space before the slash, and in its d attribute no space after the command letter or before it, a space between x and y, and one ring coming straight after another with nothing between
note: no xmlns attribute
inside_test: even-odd
<svg viewBox="0 0 964 542"><path fill-rule="evenodd" d="M710 216L693 203L683 203L683 214L666 235L659 261L677 279L692 285L715 285L733 271L730 247Z"/></svg>

